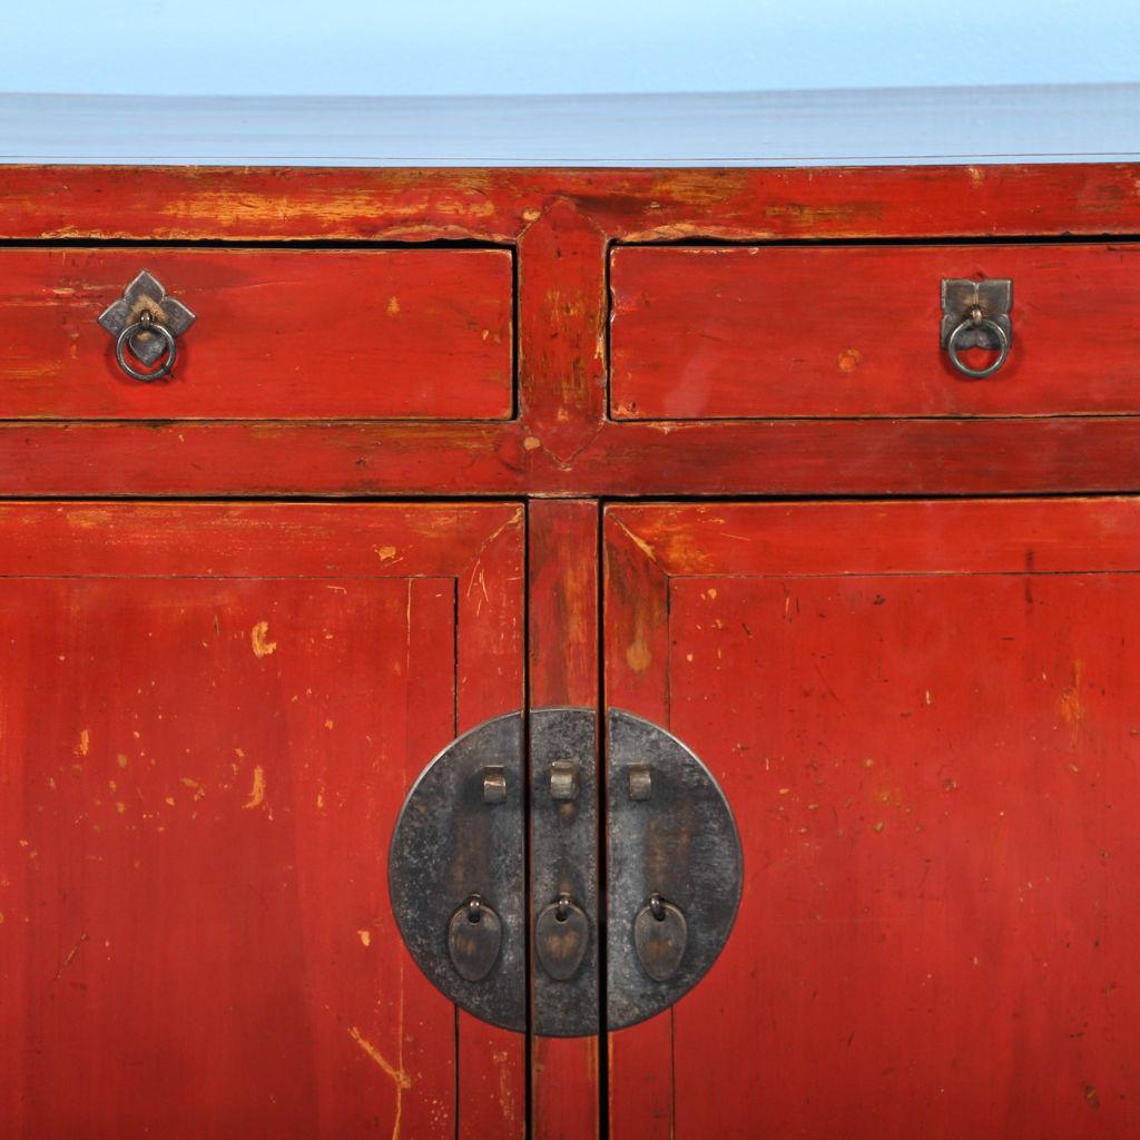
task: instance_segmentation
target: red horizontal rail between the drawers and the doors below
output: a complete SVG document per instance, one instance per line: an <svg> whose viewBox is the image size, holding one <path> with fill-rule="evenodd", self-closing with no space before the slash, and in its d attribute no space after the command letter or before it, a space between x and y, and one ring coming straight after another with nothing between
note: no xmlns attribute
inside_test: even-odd
<svg viewBox="0 0 1140 1140"><path fill-rule="evenodd" d="M0 494L985 495L1140 490L1126 416L605 423L561 459L519 423L0 423Z"/></svg>

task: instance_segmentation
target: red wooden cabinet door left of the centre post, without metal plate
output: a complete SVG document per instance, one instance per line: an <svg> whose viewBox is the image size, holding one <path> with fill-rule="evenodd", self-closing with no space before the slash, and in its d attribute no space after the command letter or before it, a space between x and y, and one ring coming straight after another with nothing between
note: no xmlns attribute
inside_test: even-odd
<svg viewBox="0 0 1140 1140"><path fill-rule="evenodd" d="M385 879L522 565L510 504L0 507L0 1132L522 1134Z"/></svg>

